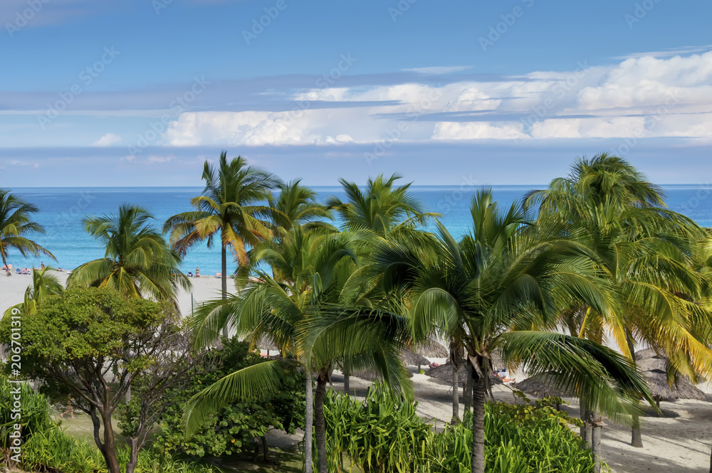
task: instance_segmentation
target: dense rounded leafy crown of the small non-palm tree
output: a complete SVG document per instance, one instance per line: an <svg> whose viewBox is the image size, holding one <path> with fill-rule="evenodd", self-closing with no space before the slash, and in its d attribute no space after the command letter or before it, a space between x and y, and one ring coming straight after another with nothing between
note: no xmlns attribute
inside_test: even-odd
<svg viewBox="0 0 712 473"><path fill-rule="evenodd" d="M150 355L125 361L125 350L150 344L166 317L160 304L125 299L112 289L68 289L47 299L38 312L23 314L22 371L42 379L43 392L66 398L66 383L58 381L63 373L95 378L98 366L127 371L148 366ZM0 339L9 339L10 324L9 317L0 321Z"/></svg>

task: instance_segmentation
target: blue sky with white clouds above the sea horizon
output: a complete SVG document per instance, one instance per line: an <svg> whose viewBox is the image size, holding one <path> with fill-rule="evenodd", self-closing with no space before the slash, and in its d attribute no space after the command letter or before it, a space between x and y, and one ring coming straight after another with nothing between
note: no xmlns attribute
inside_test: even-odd
<svg viewBox="0 0 712 473"><path fill-rule="evenodd" d="M3 0L0 176L543 184L622 154L706 183L708 1Z"/></svg>

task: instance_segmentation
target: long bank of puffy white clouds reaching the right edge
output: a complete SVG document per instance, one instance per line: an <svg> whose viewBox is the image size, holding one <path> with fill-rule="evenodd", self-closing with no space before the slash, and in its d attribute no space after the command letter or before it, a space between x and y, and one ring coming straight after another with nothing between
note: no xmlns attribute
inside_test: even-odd
<svg viewBox="0 0 712 473"><path fill-rule="evenodd" d="M185 112L169 124L163 142L712 137L712 52L627 58L609 67L578 63L569 71L492 82L313 87L290 97L297 104L292 112ZM321 108L323 102L339 106Z"/></svg>

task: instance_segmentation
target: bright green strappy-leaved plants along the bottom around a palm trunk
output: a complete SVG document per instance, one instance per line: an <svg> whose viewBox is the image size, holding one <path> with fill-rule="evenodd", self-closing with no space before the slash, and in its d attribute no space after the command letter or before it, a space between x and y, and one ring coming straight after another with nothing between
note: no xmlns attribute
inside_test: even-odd
<svg viewBox="0 0 712 473"><path fill-rule="evenodd" d="M417 415L417 403L374 386L365 400L328 393L324 406L329 471L470 472L471 417L435 433ZM590 450L571 430L580 421L549 406L491 403L485 409L488 473L590 472Z"/></svg>

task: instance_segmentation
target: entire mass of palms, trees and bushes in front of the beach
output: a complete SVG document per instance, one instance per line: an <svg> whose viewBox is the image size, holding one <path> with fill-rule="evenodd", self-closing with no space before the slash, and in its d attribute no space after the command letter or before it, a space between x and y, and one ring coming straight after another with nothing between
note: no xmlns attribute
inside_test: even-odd
<svg viewBox="0 0 712 473"><path fill-rule="evenodd" d="M5 315L2 339L22 314L23 366L50 400L75 396L100 454L68 440L47 417L48 401L28 394L38 420L23 425L31 452L23 465L132 473L160 462L155 455L256 458L258 447L266 461L266 432L303 427L308 473L599 472L602 416L631 427L640 446L643 406L655 405L636 346L669 359L671 384L712 376L711 235L666 208L661 188L618 156L579 159L568 176L511 205L479 189L461 236L395 174L363 187L342 179L345 198L325 203L301 181L226 152L205 162L202 179L194 210L162 231L127 204L86 216L105 257L76 268L68 289L51 268L35 270ZM42 230L37 211L0 191L4 262L9 250L50 255L26 239ZM182 258L216 238L220 297L184 323ZM417 415L402 361L436 340L468 373L460 418L452 371L452 422L440 432ZM278 356L255 351L265 343ZM580 420L555 400L487 402L495 358L577 396ZM347 392L359 371L383 384L365 400L337 394L328 388L335 368ZM49 445L63 452L43 456ZM87 460L72 463L66 452ZM167 461L165 471L202 468Z"/></svg>

